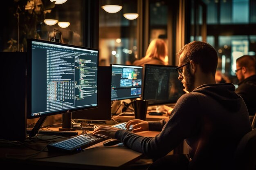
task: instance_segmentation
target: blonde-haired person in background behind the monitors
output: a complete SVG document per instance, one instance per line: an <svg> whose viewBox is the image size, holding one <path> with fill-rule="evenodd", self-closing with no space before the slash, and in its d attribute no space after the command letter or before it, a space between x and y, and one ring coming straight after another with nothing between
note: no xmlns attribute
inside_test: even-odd
<svg viewBox="0 0 256 170"><path fill-rule="evenodd" d="M145 57L135 60L132 65L144 66L144 64L168 65L167 45L162 39L154 39L150 42Z"/></svg>

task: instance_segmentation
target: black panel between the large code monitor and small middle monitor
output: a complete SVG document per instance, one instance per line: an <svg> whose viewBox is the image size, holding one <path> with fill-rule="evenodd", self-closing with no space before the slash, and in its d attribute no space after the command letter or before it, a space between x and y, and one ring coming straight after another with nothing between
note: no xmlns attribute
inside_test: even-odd
<svg viewBox="0 0 256 170"><path fill-rule="evenodd" d="M111 67L98 67L98 107L73 112L72 119L111 120Z"/></svg>

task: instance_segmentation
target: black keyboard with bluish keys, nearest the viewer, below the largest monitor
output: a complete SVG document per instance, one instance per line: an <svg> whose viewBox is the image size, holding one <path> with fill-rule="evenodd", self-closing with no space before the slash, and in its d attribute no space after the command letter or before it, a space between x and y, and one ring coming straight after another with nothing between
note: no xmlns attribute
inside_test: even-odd
<svg viewBox="0 0 256 170"><path fill-rule="evenodd" d="M49 151L66 151L74 152L81 151L84 148L88 148L101 141L109 139L109 137L102 134L83 134L63 141L58 141L47 146Z"/></svg>

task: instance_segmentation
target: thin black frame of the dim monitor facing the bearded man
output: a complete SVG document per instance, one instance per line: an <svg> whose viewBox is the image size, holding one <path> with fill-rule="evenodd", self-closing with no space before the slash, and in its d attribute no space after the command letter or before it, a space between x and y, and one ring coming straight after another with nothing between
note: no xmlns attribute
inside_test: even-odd
<svg viewBox="0 0 256 170"><path fill-rule="evenodd" d="M142 91L142 99L143 100L146 100L145 99L145 96L144 96L144 94L145 94L145 83L146 83L146 67L147 66L157 66L157 67L168 67L168 68L177 68L177 66L172 66L172 65L159 65L159 64L144 64L144 70L143 70L143 79L144 79L144 82L143 82L143 86L142 86L142 88L143 88L143 91ZM178 73L177 73L177 79L178 79L178 77L179 77L179 75L178 75ZM184 92L182 92L182 94L184 94ZM156 105L163 105L163 104L174 104L174 103L176 103L177 101L166 101L166 102L153 102L153 103L149 103L148 102L148 106L156 106Z"/></svg>

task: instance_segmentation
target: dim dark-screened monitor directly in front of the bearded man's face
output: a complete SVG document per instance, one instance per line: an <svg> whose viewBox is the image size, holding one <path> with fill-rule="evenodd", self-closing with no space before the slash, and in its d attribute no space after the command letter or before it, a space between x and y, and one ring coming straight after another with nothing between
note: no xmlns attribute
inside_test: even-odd
<svg viewBox="0 0 256 170"><path fill-rule="evenodd" d="M183 94L176 66L145 64L143 99L148 105L175 104Z"/></svg>

